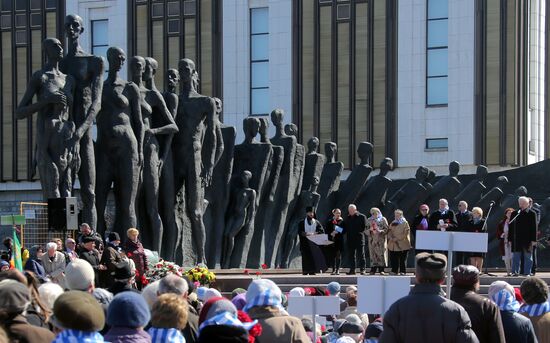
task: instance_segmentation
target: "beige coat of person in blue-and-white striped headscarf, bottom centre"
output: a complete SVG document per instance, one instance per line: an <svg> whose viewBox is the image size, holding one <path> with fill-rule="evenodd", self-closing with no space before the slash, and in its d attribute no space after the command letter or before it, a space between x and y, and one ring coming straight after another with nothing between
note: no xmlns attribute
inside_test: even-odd
<svg viewBox="0 0 550 343"><path fill-rule="evenodd" d="M258 343L311 343L302 321L275 307L253 307L248 315L262 325L262 334L256 337Z"/></svg>

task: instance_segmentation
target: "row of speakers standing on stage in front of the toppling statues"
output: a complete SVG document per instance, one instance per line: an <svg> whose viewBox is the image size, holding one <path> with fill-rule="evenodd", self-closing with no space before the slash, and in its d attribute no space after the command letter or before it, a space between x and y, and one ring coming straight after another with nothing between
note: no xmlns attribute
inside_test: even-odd
<svg viewBox="0 0 550 343"><path fill-rule="evenodd" d="M508 208L497 227L500 254L508 275L530 275L536 269L536 245L540 214L532 207L532 199L518 198L518 209ZM332 268L332 275L340 274L344 253L348 254L349 272L355 274L356 267L365 274L365 246L368 245L370 274L379 272L385 275L385 268L391 267L392 275L405 275L409 250L412 249L418 230L440 230L459 232L487 232L483 210L474 207L468 210L465 201L458 203L458 211L449 208L446 199L439 200L437 211L430 213L423 204L411 225L401 210L394 211L391 222L382 215L380 209L370 209L370 216L360 213L354 204L348 206L348 215L343 218L340 209L332 211L332 217L324 225L315 218L313 207L306 209L306 217L300 222L300 251L302 253L302 273L313 275ZM332 244L317 245L308 236L325 233ZM491 237L489 238L489 240ZM419 253L421 250L415 250ZM456 254L456 264L471 264L479 270L483 268L483 253Z"/></svg>

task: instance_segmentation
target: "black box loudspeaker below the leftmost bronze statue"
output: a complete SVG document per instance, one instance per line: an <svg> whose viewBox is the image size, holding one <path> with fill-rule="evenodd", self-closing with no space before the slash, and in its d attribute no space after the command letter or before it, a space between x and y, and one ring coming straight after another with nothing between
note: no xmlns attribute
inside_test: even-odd
<svg viewBox="0 0 550 343"><path fill-rule="evenodd" d="M78 230L76 198L48 199L48 230Z"/></svg>

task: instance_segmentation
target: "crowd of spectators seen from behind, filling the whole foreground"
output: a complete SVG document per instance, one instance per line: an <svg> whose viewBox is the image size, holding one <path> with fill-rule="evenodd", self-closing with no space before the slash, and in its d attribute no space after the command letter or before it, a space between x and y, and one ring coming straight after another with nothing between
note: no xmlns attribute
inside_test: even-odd
<svg viewBox="0 0 550 343"><path fill-rule="evenodd" d="M260 278L223 296L176 274L139 290L134 274L121 276L118 270L114 280L119 286L101 288L96 269L81 258L72 259L56 280L10 269L0 272L0 343L550 342L543 280L528 277L519 289L495 281L484 297L477 294L479 270L459 265L453 269L449 300L441 287L445 255L419 253L415 268L410 294L382 316L362 313L357 306L358 298L376 294L355 286L344 289L335 281L284 293ZM340 306L336 314L316 320L323 325L314 324L310 317L288 313L292 297L303 296L338 297Z"/></svg>

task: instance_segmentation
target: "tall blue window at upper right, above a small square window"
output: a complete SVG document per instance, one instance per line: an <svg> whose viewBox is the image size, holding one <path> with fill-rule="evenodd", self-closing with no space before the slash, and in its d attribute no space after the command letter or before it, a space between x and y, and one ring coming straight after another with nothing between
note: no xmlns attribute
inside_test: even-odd
<svg viewBox="0 0 550 343"><path fill-rule="evenodd" d="M447 0L428 0L426 28L426 105L448 103L448 22Z"/></svg>

